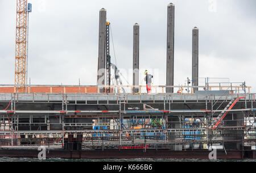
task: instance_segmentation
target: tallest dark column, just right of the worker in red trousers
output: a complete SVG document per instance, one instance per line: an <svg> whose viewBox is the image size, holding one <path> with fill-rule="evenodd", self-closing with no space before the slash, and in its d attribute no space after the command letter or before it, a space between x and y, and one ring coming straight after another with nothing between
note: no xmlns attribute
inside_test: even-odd
<svg viewBox="0 0 256 173"><path fill-rule="evenodd" d="M170 3L167 7L167 86L174 86L174 14L175 6L173 3ZM173 93L174 88L166 88L166 92Z"/></svg>

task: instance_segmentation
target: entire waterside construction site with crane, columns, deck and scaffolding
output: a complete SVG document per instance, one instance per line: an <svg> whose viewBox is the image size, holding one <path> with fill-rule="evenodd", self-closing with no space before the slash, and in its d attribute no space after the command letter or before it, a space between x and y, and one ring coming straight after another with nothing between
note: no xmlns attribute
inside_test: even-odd
<svg viewBox="0 0 256 173"><path fill-rule="evenodd" d="M139 85L139 24L133 26L133 85L110 56L110 22L99 13L97 85L30 85L28 16L16 0L15 83L0 85L0 157L253 158L255 94L245 82L199 82L199 28L192 28L192 78L175 86L175 5L167 6L166 85ZM147 75L147 74L146 74ZM164 74L162 74L164 75ZM217 78L216 78L217 79Z"/></svg>

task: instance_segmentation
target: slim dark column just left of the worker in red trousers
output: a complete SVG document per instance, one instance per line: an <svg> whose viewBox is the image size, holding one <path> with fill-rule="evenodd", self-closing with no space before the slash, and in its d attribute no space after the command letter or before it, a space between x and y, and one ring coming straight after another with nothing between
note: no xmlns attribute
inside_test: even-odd
<svg viewBox="0 0 256 173"><path fill-rule="evenodd" d="M139 24L133 26L133 86L139 85ZM139 92L138 87L133 87L133 92Z"/></svg>

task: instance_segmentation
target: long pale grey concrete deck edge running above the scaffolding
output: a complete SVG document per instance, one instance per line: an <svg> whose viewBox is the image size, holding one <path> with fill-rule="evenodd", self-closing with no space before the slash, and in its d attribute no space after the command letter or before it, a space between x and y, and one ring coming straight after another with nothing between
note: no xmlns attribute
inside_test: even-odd
<svg viewBox="0 0 256 173"><path fill-rule="evenodd" d="M14 93L0 93L0 102L10 102L11 98L14 98L18 101L26 102L62 102L65 100L72 101L118 101L118 100L127 100L129 101L141 101L141 100L151 100L151 101L163 101L166 102L170 100L173 101L199 101L199 100L232 100L237 97L246 97L246 100L253 100L255 94L233 94L233 95L205 95L205 94L119 94L119 95L106 95L106 94L46 94L46 93L32 93L32 94L14 94ZM244 100L244 99L243 99Z"/></svg>

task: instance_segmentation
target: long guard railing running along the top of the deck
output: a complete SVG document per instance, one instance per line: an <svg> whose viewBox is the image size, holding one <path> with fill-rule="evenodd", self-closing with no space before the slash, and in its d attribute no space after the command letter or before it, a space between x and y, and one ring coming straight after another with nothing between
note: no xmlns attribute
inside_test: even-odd
<svg viewBox="0 0 256 173"><path fill-rule="evenodd" d="M15 85L0 85L0 93L7 93L4 88L8 88L8 92L11 93L19 93L19 87ZM40 91L40 88L44 90ZM115 93L123 93L122 88L126 93L133 93L134 88L138 88L139 92L137 94L147 93L146 85L139 86L131 86L131 85L112 85L112 86L95 86L95 85L26 85L27 90L26 93L69 93L68 89L73 88L76 89L75 93L100 93L100 88L105 88L105 91L108 89L112 90ZM33 88L33 90L31 90ZM56 91L55 88L58 88L60 91ZM90 88L90 89L88 89ZM93 90L92 90L93 88ZM163 94L166 93L166 88L174 88L175 92L179 92L179 94L184 93L195 93L195 88L201 91L214 91L217 89L218 91L228 91L228 94L234 94L237 92L250 93L251 86L245 86L243 82L221 82L221 83L210 83L208 82L205 86L163 86L163 85L151 85L151 93L155 94ZM136 94L136 93L134 93Z"/></svg>

